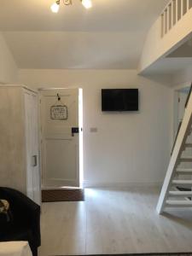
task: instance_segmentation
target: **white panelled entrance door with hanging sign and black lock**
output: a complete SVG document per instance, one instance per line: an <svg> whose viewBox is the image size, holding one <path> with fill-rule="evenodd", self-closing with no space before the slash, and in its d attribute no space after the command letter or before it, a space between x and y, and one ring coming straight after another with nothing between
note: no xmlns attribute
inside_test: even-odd
<svg viewBox="0 0 192 256"><path fill-rule="evenodd" d="M79 187L79 89L41 90L43 187Z"/></svg>

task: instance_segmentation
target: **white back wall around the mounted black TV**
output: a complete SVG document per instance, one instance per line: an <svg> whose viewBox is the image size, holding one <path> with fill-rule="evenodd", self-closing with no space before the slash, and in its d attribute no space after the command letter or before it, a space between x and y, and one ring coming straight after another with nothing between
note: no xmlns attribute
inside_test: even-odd
<svg viewBox="0 0 192 256"><path fill-rule="evenodd" d="M162 182L170 159L171 89L136 70L23 69L19 79L32 88L83 88L86 184ZM139 113L102 113L101 89L126 87L139 88Z"/></svg>

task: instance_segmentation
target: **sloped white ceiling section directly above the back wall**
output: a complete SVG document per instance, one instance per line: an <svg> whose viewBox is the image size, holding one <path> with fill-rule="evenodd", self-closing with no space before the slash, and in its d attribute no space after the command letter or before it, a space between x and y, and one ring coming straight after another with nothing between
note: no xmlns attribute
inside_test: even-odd
<svg viewBox="0 0 192 256"><path fill-rule="evenodd" d="M138 32L6 32L4 36L20 68L123 69L137 67L144 35Z"/></svg>

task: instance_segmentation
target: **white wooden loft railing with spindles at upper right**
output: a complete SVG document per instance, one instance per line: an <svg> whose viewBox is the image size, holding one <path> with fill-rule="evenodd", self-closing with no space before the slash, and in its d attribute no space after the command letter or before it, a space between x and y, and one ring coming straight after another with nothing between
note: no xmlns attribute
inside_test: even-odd
<svg viewBox="0 0 192 256"><path fill-rule="evenodd" d="M171 0L161 14L161 37L163 38L191 8L192 0Z"/></svg>

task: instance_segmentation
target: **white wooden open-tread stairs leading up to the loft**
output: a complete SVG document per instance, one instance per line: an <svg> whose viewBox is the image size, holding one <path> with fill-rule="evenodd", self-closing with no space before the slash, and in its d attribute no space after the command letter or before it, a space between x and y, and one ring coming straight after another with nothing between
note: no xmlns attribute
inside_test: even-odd
<svg viewBox="0 0 192 256"><path fill-rule="evenodd" d="M192 148L189 136L192 133L192 86L185 104L183 122L179 125L172 148L172 157L166 172L166 178L160 193L157 212L164 212L166 207L192 207L192 155L183 156L187 148ZM188 163L191 168L183 167Z"/></svg>

